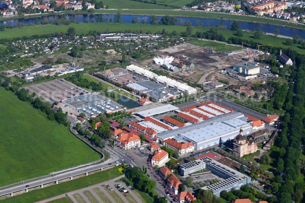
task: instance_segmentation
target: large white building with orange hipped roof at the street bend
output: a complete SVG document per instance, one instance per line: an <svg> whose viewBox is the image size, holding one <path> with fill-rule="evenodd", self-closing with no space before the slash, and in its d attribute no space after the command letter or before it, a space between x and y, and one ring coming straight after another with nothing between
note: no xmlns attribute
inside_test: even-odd
<svg viewBox="0 0 305 203"><path fill-rule="evenodd" d="M117 137L117 139L115 140L115 144L123 148L124 150L127 150L138 147L141 144L141 140L138 135L135 135L133 133L126 133Z"/></svg>

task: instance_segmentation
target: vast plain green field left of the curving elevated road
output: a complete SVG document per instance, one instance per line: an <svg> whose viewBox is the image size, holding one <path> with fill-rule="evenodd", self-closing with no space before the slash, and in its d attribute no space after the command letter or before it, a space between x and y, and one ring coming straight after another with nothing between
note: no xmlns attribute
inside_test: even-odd
<svg viewBox="0 0 305 203"><path fill-rule="evenodd" d="M0 88L0 186L94 161L99 155L28 102Z"/></svg>

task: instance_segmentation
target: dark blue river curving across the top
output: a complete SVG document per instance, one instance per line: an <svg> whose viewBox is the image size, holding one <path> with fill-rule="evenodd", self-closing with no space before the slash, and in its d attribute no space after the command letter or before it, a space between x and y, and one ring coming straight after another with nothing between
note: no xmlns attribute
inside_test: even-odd
<svg viewBox="0 0 305 203"><path fill-rule="evenodd" d="M85 19L89 20L89 22L94 19L96 21L96 17L98 14L63 14L66 19L74 18L75 21L84 22ZM104 14L104 19L106 19L106 15ZM109 18L114 18L113 14L108 15ZM60 15L53 15L53 16L45 16L48 20L54 20L56 17L60 17ZM122 19L124 23L131 23L132 19L134 17L138 17L142 20L145 20L146 24L150 24L149 17L150 16L142 16L142 15L122 15ZM13 20L4 20L1 21L0 24L12 24L15 25L17 23L23 23L25 25L27 24L34 24L35 19L38 18L39 22L41 22L42 17L33 17L33 18L20 18L20 19L13 19ZM161 20L162 16L158 16L159 20ZM215 25L220 25L221 23L227 27L231 28L231 25L233 23L232 20L217 20L217 19L203 19L203 18L191 18L191 17L176 17L177 18L177 24L179 22L179 19L183 22L186 20L190 21L193 26L196 25L197 20L200 20L200 26L204 27L212 27ZM268 24L260 24L260 23L249 23L249 22L240 22L240 29L242 30L251 30L254 28L255 30L257 28L260 28L260 30L263 30L264 32L273 33L275 29L280 29L280 35L292 37L293 35L299 35L303 39L305 39L305 30L299 30L296 28L291 27L282 27L282 26L276 26L276 25L268 25ZM111 31L111 30L110 30Z"/></svg>

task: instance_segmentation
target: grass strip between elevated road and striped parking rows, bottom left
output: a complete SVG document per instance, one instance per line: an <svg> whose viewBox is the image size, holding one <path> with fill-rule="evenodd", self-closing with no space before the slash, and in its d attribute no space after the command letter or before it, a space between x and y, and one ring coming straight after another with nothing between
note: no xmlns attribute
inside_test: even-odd
<svg viewBox="0 0 305 203"><path fill-rule="evenodd" d="M28 203L28 202L37 202L45 200L51 197L55 197L60 194L65 194L74 190L79 190L88 185L95 185L97 183L104 182L106 180L113 179L122 174L118 171L119 167L114 167L99 173L94 173L89 176L84 176L78 179L70 180L64 183L59 183L58 185L52 185L50 187L45 187L43 189L30 191L28 193L20 194L11 198L6 198L1 202L11 202L11 203Z"/></svg>

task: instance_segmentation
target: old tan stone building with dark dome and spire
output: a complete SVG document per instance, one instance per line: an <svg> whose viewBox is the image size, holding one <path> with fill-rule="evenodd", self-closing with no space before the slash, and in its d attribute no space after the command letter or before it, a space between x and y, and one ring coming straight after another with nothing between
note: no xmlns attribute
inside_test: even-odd
<svg viewBox="0 0 305 203"><path fill-rule="evenodd" d="M240 158L243 155L257 151L257 145L252 141L247 141L242 128L240 128L239 135L237 135L235 139L236 141L233 143L233 154L235 156Z"/></svg>

